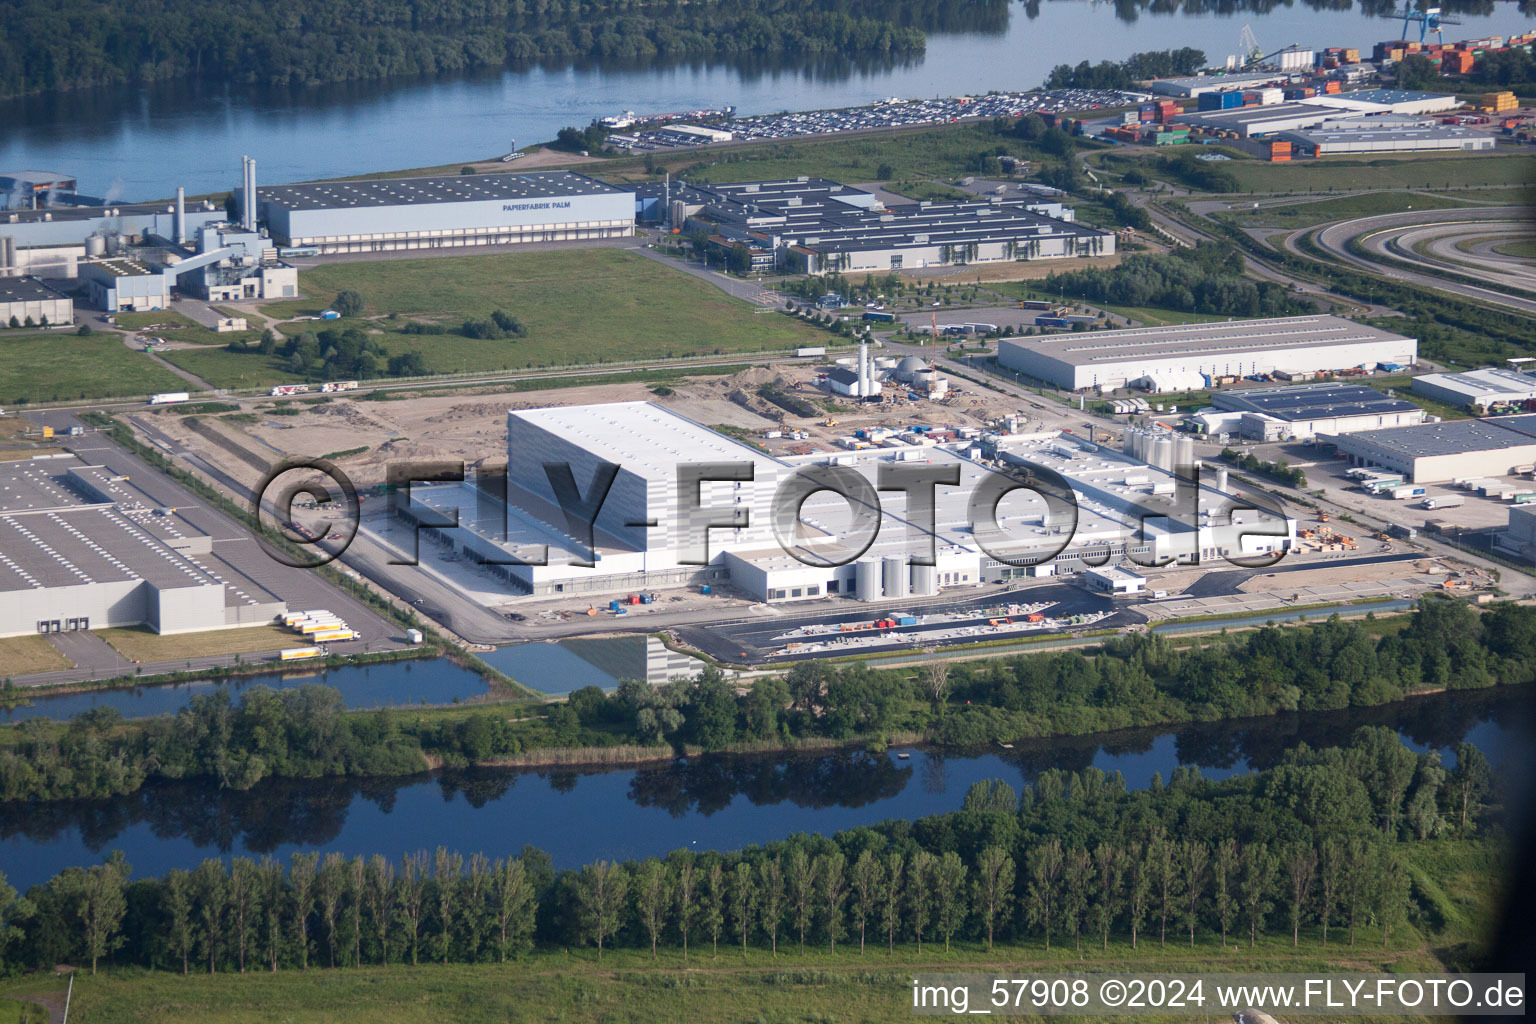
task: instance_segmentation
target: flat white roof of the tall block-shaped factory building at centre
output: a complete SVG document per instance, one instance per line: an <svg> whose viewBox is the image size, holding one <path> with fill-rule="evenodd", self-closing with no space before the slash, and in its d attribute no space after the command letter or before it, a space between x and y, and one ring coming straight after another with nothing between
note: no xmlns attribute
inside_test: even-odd
<svg viewBox="0 0 1536 1024"><path fill-rule="evenodd" d="M684 462L777 464L756 448L651 402L516 408L508 415L645 477L674 479Z"/></svg>

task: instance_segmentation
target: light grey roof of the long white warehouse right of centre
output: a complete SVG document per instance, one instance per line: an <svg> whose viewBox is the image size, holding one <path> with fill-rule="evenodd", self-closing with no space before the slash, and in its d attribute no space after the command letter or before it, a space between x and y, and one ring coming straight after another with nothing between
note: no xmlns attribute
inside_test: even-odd
<svg viewBox="0 0 1536 1024"><path fill-rule="evenodd" d="M1068 365L1095 365L1135 359L1220 353L1315 348L1341 342L1399 341L1401 335L1339 316L1272 316L1218 324L1130 327L1072 335L1011 338L1005 345L1058 359Z"/></svg>

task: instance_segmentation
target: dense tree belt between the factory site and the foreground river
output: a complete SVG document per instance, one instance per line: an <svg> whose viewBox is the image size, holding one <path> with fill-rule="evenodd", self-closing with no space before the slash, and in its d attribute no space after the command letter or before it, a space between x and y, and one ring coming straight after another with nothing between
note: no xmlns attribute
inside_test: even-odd
<svg viewBox="0 0 1536 1024"><path fill-rule="evenodd" d="M542 718L505 709L429 717L349 712L327 686L252 686L195 695L175 715L121 722L94 708L68 723L31 718L0 731L0 800L111 797L151 778L384 777L430 763L487 765L539 748L762 749L806 738L880 742L892 734L975 748L1130 726L1327 711L1401 700L1418 689L1536 679L1536 608L1425 597L1405 626L1370 622L1266 628L1181 648L1115 637L1092 652L926 663L920 671L797 662L742 691L720 671L650 685L625 680L550 705Z"/></svg>

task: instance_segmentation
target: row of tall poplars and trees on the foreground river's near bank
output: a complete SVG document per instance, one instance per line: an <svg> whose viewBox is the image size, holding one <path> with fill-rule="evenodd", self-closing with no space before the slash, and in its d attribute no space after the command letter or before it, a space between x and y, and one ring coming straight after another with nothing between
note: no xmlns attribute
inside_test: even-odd
<svg viewBox="0 0 1536 1024"><path fill-rule="evenodd" d="M1470 745L1447 771L1384 728L1301 746L1273 769L1167 785L1049 771L1023 792L974 785L960 811L734 854L676 851L556 872L438 847L382 855L206 860L132 880L120 854L25 897L0 881L11 966L101 961L189 973L422 961L504 963L587 944L743 952L839 943L1040 940L1109 949L1157 941L1253 946L1303 930L1385 946L1430 910L1410 889L1413 844L1485 829L1491 772Z"/></svg>

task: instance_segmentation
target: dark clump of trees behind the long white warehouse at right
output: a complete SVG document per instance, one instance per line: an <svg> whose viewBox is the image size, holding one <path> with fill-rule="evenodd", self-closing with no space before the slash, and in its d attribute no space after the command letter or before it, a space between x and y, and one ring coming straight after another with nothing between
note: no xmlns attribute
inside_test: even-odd
<svg viewBox="0 0 1536 1024"><path fill-rule="evenodd" d="M1241 253L1220 243L1200 243L1167 253L1137 253L1115 267L1052 273L1041 290L1115 306L1155 306L1186 313L1229 316L1296 316L1316 306L1293 298L1284 286L1243 276Z"/></svg>

